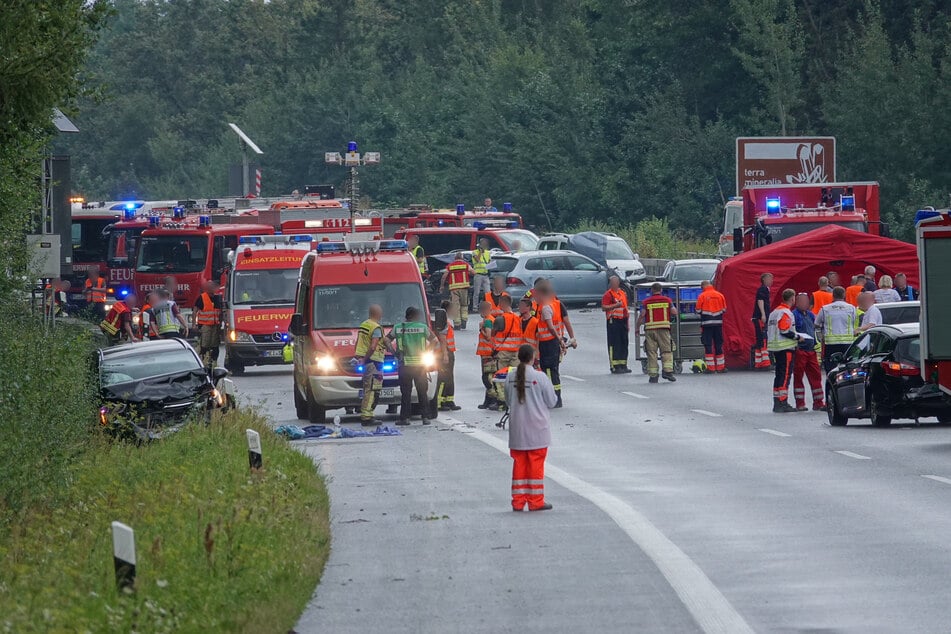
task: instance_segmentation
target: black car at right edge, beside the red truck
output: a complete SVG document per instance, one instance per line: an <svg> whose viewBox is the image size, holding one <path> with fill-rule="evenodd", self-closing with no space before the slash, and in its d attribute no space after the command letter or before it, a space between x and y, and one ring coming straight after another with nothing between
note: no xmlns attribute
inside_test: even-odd
<svg viewBox="0 0 951 634"><path fill-rule="evenodd" d="M921 378L918 324L875 326L832 359L837 365L826 377L831 425L869 418L884 427L893 418L929 416L951 422L951 399Z"/></svg>

